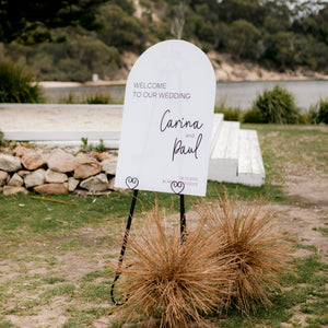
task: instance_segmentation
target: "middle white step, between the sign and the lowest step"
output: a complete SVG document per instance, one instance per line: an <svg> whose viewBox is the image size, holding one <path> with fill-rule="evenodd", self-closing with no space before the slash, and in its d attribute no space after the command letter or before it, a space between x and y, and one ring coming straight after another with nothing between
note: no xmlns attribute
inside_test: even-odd
<svg viewBox="0 0 328 328"><path fill-rule="evenodd" d="M223 121L219 136L211 145L208 178L216 181L237 183L239 122Z"/></svg>

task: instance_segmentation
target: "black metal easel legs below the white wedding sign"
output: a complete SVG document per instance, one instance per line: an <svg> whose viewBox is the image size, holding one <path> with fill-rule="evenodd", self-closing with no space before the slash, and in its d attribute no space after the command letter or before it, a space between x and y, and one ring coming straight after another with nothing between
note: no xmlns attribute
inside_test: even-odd
<svg viewBox="0 0 328 328"><path fill-rule="evenodd" d="M115 289L116 281L120 277L120 268L122 266L122 260L124 260L124 256L126 254L128 238L129 238L129 235L130 235L130 229L131 229L132 216L133 216L136 202L137 202L137 198L138 198L138 191L139 191L138 189L133 190L129 218L128 218L127 226L126 226L126 233L125 233L125 237L124 237L124 241L122 241L122 245L121 245L121 249L120 249L120 254L119 254L119 258L118 258L118 267L117 267L117 271L115 273L115 278L114 278L114 281L113 281L113 284L112 284L112 289L110 289L110 297L112 297L112 301L115 305L124 305L128 301L128 295L127 295L126 300L124 302L118 302L114 296L114 289ZM180 241L181 241L181 243L184 243L185 239L186 239L185 196L184 195L179 195L179 196L180 196Z"/></svg>

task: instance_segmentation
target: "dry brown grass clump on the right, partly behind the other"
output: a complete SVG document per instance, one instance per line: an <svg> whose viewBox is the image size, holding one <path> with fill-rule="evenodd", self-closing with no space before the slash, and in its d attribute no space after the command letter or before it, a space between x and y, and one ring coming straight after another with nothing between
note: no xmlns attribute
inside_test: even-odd
<svg viewBox="0 0 328 328"><path fill-rule="evenodd" d="M281 289L279 277L289 271L291 259L274 212L263 199L242 202L229 199L227 192L215 202L202 201L196 210L207 220L208 234L218 238L216 256L231 256L234 261L230 301L245 313L270 305L269 293Z"/></svg>

